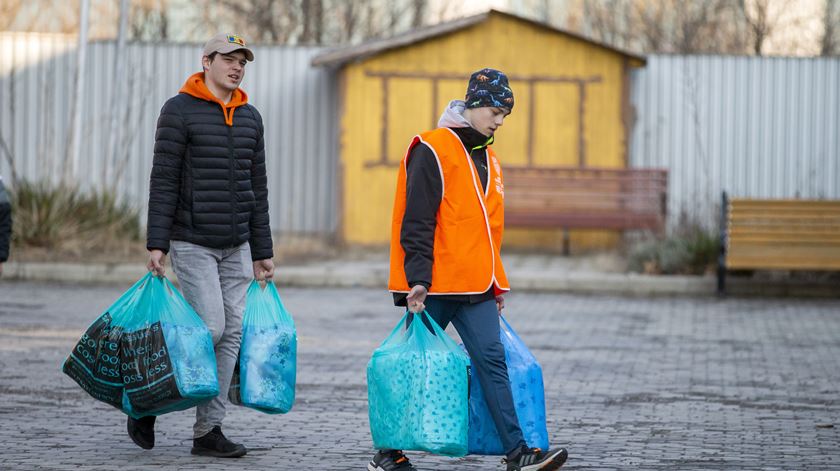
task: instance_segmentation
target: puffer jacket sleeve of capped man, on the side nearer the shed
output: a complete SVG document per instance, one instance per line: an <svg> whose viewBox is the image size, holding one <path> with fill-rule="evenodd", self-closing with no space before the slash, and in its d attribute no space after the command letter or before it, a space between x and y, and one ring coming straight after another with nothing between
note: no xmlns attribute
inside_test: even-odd
<svg viewBox="0 0 840 471"><path fill-rule="evenodd" d="M259 138L257 141L254 161L251 164L251 189L257 200L256 207L251 212L251 258L265 260L274 256L271 241L271 226L268 220L268 177L265 171L265 140L262 117L256 108L251 108L259 124Z"/></svg>

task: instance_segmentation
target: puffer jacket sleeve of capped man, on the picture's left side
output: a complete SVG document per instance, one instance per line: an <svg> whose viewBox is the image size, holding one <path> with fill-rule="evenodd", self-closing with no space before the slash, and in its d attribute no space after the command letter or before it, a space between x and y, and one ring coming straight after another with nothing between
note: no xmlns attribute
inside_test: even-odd
<svg viewBox="0 0 840 471"><path fill-rule="evenodd" d="M181 192L181 168L187 147L187 128L174 99L163 105L155 132L146 248L169 251L172 221Z"/></svg>

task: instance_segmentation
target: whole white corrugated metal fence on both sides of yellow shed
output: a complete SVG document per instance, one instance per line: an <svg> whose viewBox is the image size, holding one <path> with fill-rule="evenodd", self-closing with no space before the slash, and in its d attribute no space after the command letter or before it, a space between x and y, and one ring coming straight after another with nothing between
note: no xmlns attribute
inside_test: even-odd
<svg viewBox="0 0 840 471"><path fill-rule="evenodd" d="M61 175L75 48L73 36L0 33L0 136L22 177ZM332 235L337 226L338 91L334 71L309 65L318 52L256 47L243 83L266 125L272 227L281 233ZM76 178L102 188L113 162L117 188L145 212L157 115L200 69L200 46L130 43L120 84L111 79L115 53L114 42L90 45ZM723 190L840 199L838 84L837 58L650 56L633 77L630 165L669 170L672 228L681 216L714 227ZM125 105L116 110L121 152L109 161L112 90ZM0 173L9 170L3 156Z"/></svg>

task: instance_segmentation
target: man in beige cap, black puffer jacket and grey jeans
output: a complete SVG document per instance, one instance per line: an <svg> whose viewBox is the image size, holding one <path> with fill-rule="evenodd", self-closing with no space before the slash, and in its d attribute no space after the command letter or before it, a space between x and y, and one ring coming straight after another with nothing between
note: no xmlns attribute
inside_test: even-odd
<svg viewBox="0 0 840 471"><path fill-rule="evenodd" d="M213 336L219 395L196 408L192 453L238 457L221 431L239 353L245 292L274 272L263 123L239 88L254 53L236 35L204 47L204 71L163 105L149 185L148 268L162 276L166 254L184 297ZM153 416L128 419L140 447L154 446Z"/></svg>

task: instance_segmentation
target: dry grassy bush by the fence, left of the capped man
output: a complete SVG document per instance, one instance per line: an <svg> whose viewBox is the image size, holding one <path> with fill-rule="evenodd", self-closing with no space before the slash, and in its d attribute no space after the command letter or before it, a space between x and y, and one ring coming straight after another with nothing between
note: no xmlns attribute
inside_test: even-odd
<svg viewBox="0 0 840 471"><path fill-rule="evenodd" d="M140 238L139 211L107 192L22 181L10 196L19 248L85 252Z"/></svg>

